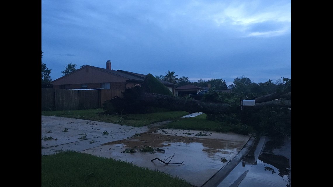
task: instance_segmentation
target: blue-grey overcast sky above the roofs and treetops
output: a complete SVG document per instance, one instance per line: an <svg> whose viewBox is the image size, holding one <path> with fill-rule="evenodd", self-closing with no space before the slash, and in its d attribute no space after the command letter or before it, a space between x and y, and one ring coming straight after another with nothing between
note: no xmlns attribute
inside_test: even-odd
<svg viewBox="0 0 333 187"><path fill-rule="evenodd" d="M42 0L42 62L191 82L291 78L291 0Z"/></svg>

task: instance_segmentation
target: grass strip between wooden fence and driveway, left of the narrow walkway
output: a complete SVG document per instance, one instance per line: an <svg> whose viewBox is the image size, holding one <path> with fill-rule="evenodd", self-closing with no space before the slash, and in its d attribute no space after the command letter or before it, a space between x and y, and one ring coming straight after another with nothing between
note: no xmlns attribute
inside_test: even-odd
<svg viewBox="0 0 333 187"><path fill-rule="evenodd" d="M116 123L121 125L129 125L134 127L142 127L156 122L174 120L181 116L189 114L188 112L185 111L160 110L159 112L148 113L148 114L99 115L99 113L102 112L103 109L56 110L56 111L42 111L42 115L86 119L92 121L101 121L101 122Z"/></svg>

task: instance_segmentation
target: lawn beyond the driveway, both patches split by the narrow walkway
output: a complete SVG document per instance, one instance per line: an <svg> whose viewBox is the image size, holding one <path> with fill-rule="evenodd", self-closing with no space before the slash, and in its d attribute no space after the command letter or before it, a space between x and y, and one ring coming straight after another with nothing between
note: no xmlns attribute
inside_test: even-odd
<svg viewBox="0 0 333 187"><path fill-rule="evenodd" d="M189 114L185 111L169 111L166 109L157 109L159 112L147 114L125 114L125 115L99 115L103 109L87 109L87 110L56 110L42 111L42 115L60 116L77 119L86 119L92 121L101 121L108 123L116 123L134 127L142 127L156 122L173 120L163 128L185 129L185 130L207 130L216 132L235 132L246 134L253 131L252 127L239 124L229 124L224 122L210 121L206 119L206 114L196 117L180 118Z"/></svg>

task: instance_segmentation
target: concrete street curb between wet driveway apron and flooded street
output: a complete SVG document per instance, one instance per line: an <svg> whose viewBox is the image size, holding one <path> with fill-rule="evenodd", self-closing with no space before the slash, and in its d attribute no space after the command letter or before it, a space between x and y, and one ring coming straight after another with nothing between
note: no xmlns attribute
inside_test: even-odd
<svg viewBox="0 0 333 187"><path fill-rule="evenodd" d="M249 140L246 142L243 148L236 154L236 156L231 159L227 164L225 164L220 170L218 170L213 176L210 177L203 185L200 187L216 187L222 180L229 175L229 173L239 164L239 162L247 155L251 150L252 146L256 141L255 134L252 134Z"/></svg>

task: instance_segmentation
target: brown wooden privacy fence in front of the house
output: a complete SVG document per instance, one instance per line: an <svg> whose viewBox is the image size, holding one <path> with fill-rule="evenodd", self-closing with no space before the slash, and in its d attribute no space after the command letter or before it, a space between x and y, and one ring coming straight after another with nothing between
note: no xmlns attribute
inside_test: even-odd
<svg viewBox="0 0 333 187"><path fill-rule="evenodd" d="M114 96L123 97L123 89L65 90L42 88L42 110L101 108Z"/></svg>

